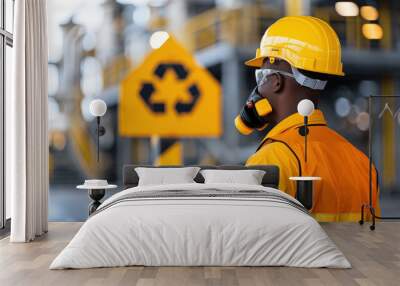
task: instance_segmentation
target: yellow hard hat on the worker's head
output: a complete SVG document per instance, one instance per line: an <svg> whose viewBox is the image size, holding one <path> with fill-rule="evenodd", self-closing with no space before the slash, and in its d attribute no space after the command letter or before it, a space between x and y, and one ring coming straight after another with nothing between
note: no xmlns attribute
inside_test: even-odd
<svg viewBox="0 0 400 286"><path fill-rule="evenodd" d="M311 16L283 17L273 23L256 57L246 65L261 67L266 57L285 60L298 69L344 75L338 36L328 23Z"/></svg>

